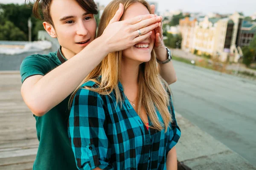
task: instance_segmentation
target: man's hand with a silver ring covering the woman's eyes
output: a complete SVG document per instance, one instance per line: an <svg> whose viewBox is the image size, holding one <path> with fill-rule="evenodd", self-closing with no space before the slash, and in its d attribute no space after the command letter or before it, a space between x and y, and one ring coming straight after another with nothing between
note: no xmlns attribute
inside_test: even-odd
<svg viewBox="0 0 256 170"><path fill-rule="evenodd" d="M106 50L108 53L122 51L147 39L153 30L160 26L162 20L161 17L157 17L154 14L147 14L119 21L123 11L123 5L120 4L115 16L100 36L107 45ZM139 36L138 29L142 33L141 36Z"/></svg>

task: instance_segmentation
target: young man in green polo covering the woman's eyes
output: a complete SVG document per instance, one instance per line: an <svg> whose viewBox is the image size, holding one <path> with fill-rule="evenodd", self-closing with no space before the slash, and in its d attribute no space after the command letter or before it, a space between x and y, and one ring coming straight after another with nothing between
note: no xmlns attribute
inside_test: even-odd
<svg viewBox="0 0 256 170"><path fill-rule="evenodd" d="M94 14L98 11L93 0L35 0L34 14L38 15L40 10L45 30L58 38L61 47L48 55L26 57L20 66L21 94L35 116L39 140L33 169L76 170L67 134L70 94L108 53L145 40L151 30L158 30L155 45L158 60L167 60L159 27L162 18L144 15L119 21L123 13L120 4L104 34L95 39ZM172 62L160 65L163 78L175 82Z"/></svg>

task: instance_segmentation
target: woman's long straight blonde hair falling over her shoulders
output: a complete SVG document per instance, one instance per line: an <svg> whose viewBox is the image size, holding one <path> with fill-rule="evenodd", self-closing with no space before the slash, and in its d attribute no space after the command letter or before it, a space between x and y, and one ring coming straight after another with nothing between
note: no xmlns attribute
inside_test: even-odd
<svg viewBox="0 0 256 170"><path fill-rule="evenodd" d="M134 3L142 3L151 13L151 7L146 0L113 0L111 3L108 4L102 14L97 37L103 34L103 31L115 15L115 12L118 10L119 3L123 4L124 13L126 9ZM123 20L123 16L120 20ZM116 96L116 102L123 102L122 100L124 98L122 98L122 94L118 87L118 82L121 82L121 60L122 51L112 52L108 54L102 60L102 62L96 68L94 68L93 71L83 80L83 82L81 82L76 91L74 91L70 98L70 106L72 105L74 96L81 87L81 85L88 81L96 82L96 84L99 86L97 88L89 88L86 86L82 88L89 89L90 91L95 91L102 95L108 95L112 91L114 91ZM164 86L168 88L168 85L166 85L166 82L164 82L163 79L159 76L154 50L151 52L150 61L144 62L140 65L138 85L138 115L141 117L141 108L144 107L147 115L149 116L153 124L151 128L157 130L163 130L163 128L165 128L165 131L167 131L170 122L172 122L172 116L168 110L169 95L164 88ZM163 119L163 123L159 121L156 109L159 111Z"/></svg>

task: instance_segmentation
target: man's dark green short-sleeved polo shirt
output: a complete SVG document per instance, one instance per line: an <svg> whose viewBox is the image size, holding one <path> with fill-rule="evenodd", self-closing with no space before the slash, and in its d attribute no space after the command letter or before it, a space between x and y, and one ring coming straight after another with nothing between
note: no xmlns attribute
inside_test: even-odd
<svg viewBox="0 0 256 170"><path fill-rule="evenodd" d="M46 75L67 59L59 49L47 55L26 57L20 66L22 82L33 75ZM39 140L33 170L77 170L75 157L67 133L69 97L36 119Z"/></svg>

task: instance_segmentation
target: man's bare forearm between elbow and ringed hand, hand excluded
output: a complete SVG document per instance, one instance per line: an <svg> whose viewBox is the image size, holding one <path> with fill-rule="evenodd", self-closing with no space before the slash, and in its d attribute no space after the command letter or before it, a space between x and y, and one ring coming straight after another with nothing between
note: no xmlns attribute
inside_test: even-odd
<svg viewBox="0 0 256 170"><path fill-rule="evenodd" d="M34 108L44 115L69 96L107 54L106 45L99 37L79 54L39 79L26 99L29 102L38 101Z"/></svg>

